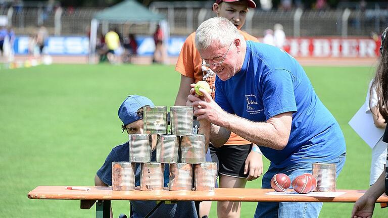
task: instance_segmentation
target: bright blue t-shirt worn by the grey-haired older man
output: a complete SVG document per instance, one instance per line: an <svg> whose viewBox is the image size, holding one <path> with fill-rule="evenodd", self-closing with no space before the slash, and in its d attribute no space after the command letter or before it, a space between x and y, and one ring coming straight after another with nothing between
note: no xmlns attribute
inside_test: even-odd
<svg viewBox="0 0 388 218"><path fill-rule="evenodd" d="M226 81L216 77L215 101L230 114L265 122L293 112L282 150L260 146L276 168L331 160L346 151L340 125L316 95L302 66L285 51L247 41L241 70Z"/></svg>

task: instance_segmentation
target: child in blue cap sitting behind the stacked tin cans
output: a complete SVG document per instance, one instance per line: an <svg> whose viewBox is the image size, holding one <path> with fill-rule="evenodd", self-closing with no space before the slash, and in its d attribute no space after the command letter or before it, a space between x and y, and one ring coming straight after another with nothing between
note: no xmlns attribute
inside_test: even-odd
<svg viewBox="0 0 388 218"><path fill-rule="evenodd" d="M154 103L147 97L139 95L129 95L119 107L119 118L123 122L122 131L128 134L143 134L143 106L155 106ZM152 161L155 161L156 151L152 151ZM112 186L112 162L113 161L129 161L129 145L125 142L122 145L116 146L108 154L104 165L97 171L94 177L95 186ZM164 185L169 182L169 165L165 166ZM135 169L135 185L140 185L140 163L136 163ZM155 206L156 201L130 201L131 217L144 217ZM197 212L193 201L179 201L174 204L162 204L153 213L152 217L179 217L179 218L196 218ZM112 217L112 211L111 211Z"/></svg>

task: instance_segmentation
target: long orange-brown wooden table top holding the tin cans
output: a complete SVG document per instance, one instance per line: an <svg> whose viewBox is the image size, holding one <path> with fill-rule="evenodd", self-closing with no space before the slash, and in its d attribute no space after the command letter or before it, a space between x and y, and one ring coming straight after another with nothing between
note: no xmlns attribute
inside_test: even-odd
<svg viewBox="0 0 388 218"><path fill-rule="evenodd" d="M68 200L170 200L170 201L295 201L295 202L355 202L366 190L337 190L337 196L321 196L324 192L309 194L274 193L273 189L216 188L215 191L113 191L112 187L83 186L89 191L68 190L67 186L38 186L28 193L31 199ZM290 190L291 191L291 190ZM330 194L330 193L329 193ZM315 196L314 196L315 195ZM381 195L377 202L388 202Z"/></svg>

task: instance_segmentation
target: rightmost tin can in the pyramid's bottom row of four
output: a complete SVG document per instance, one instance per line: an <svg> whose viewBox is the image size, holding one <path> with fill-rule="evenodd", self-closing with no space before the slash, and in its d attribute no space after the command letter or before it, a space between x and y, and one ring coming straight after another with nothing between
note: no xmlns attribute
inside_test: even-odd
<svg viewBox="0 0 388 218"><path fill-rule="evenodd" d="M217 163L203 162L194 165L195 189L214 191L217 180Z"/></svg>

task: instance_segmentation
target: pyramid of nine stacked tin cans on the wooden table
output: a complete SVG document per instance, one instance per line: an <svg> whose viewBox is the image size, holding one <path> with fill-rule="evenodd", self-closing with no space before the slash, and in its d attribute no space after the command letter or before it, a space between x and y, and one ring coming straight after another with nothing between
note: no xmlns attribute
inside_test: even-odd
<svg viewBox="0 0 388 218"><path fill-rule="evenodd" d="M144 134L128 135L129 162L120 162L126 163L120 166L129 168L133 178L120 173L113 162L112 189L133 190L135 165L132 163L141 163L140 190L163 190L164 165L169 164L169 190L214 191L217 163L206 162L205 135L193 132L193 107L171 106L170 134L166 106L144 106L143 112ZM156 162L151 161L153 149L156 149Z"/></svg>

